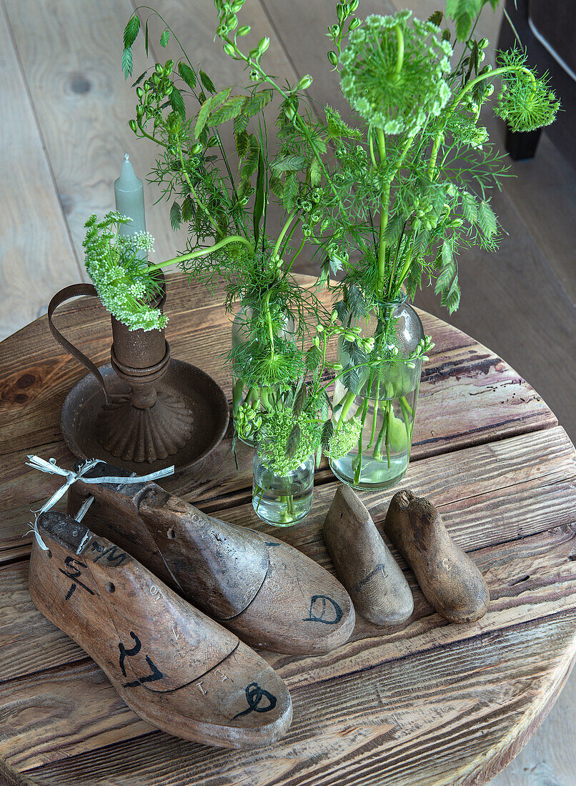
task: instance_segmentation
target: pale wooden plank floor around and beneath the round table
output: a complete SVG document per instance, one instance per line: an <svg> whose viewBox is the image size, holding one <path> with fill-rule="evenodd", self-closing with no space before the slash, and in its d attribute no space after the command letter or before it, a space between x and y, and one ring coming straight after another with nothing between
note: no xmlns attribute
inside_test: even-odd
<svg viewBox="0 0 576 786"><path fill-rule="evenodd" d="M394 0L426 17L434 0ZM124 152L141 177L154 151L127 127L133 104L119 68L131 0L0 0L2 185L0 185L0 339L46 311L53 292L79 281L83 222L113 207L112 182ZM336 0L248 0L245 20L270 35L269 67L291 78L317 74L321 104L342 105L336 75L325 64L325 24ZM440 5L440 4L438 4ZM182 31L193 59L222 83L239 81L231 61L211 44L211 0L160 0L156 7ZM361 12L387 13L391 0L361 0ZM499 17L486 10L482 34L495 39ZM152 39L151 39L152 40ZM156 39L157 41L157 35ZM159 54L171 57L172 54ZM134 68L138 69L139 62ZM493 123L495 134L501 130ZM495 195L505 236L497 255L463 255L463 299L451 318L536 387L559 423L576 438L576 174L545 137L537 157L512 164ZM148 228L157 259L182 248L158 195L146 190ZM313 272L303 260L301 272ZM444 316L430 292L417 304ZM493 786L574 784L576 678L548 720ZM409 786L409 784L408 784Z"/></svg>

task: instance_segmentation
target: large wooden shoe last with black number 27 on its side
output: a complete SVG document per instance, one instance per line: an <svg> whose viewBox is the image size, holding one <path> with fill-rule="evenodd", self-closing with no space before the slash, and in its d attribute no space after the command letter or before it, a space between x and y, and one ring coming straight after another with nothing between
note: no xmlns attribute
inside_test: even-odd
<svg viewBox="0 0 576 786"><path fill-rule="evenodd" d="M29 586L39 611L96 661L135 713L217 747L267 745L292 722L273 669L117 545L62 513L39 516Z"/></svg>

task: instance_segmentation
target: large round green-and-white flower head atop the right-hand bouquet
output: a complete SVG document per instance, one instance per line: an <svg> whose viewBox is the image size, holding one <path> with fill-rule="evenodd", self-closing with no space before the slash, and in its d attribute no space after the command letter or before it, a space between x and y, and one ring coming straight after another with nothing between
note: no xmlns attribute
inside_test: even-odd
<svg viewBox="0 0 576 786"><path fill-rule="evenodd" d="M431 22L372 15L350 34L340 56L340 86L350 105L385 134L416 134L450 96L452 48Z"/></svg>

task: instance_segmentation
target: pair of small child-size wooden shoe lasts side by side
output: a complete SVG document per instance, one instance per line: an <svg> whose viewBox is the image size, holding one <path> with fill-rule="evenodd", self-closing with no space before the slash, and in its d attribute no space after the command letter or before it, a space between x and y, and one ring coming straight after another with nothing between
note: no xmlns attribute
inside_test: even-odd
<svg viewBox="0 0 576 786"><path fill-rule="evenodd" d="M398 491L383 530L438 614L451 623L470 623L486 614L490 596L482 574L450 538L431 501ZM409 619L414 601L408 582L368 510L347 486L336 490L324 539L358 614L380 626Z"/></svg>

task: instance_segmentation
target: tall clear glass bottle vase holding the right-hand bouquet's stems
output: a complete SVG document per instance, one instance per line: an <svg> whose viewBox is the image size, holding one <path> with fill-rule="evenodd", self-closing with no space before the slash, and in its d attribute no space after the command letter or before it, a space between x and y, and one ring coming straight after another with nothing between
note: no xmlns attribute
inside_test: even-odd
<svg viewBox="0 0 576 786"><path fill-rule="evenodd" d="M348 454L330 461L337 478L357 489L384 489L405 475L410 460L421 358L411 358L424 340L416 311L405 298L383 301L369 318L348 318L374 347L368 361L354 343L339 339L338 362L344 373L334 387L332 424L358 417L361 434ZM349 374L346 369L352 369Z"/></svg>

